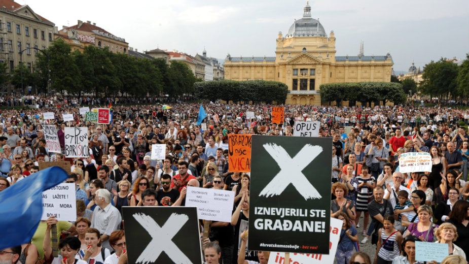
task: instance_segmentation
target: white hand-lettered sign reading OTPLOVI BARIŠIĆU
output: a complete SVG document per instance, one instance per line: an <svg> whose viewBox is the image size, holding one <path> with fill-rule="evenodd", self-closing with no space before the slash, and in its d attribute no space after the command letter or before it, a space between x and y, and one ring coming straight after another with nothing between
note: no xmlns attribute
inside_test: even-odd
<svg viewBox="0 0 469 264"><path fill-rule="evenodd" d="M65 127L65 157L87 157L88 149L88 127Z"/></svg>

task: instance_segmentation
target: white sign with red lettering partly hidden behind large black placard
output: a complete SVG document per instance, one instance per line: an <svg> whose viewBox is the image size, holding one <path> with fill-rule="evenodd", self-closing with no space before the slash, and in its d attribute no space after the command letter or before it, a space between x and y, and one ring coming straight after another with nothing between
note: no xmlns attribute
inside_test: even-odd
<svg viewBox="0 0 469 264"><path fill-rule="evenodd" d="M329 254L308 254L308 253L290 253L290 263L334 263L336 257L337 244L339 243L340 231L342 230L343 220L331 217L330 228L330 249ZM284 252L270 252L268 264L283 264L285 262Z"/></svg>

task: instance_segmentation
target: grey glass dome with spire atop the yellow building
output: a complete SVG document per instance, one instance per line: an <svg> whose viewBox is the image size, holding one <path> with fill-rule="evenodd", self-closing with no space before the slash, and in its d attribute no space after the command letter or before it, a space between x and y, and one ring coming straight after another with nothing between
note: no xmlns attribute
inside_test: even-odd
<svg viewBox="0 0 469 264"><path fill-rule="evenodd" d="M327 35L319 20L311 18L311 7L306 3L303 18L295 20L285 37L327 37Z"/></svg>

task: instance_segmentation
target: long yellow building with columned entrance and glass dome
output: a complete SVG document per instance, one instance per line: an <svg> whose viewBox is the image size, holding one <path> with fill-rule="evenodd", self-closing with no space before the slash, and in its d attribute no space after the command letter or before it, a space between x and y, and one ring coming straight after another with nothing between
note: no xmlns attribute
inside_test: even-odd
<svg viewBox="0 0 469 264"><path fill-rule="evenodd" d="M390 82L392 57L336 56L334 31L329 37L321 23L311 18L306 4L303 18L295 20L285 36L279 32L275 57L225 59L227 80L267 80L288 85L286 104L320 105L319 86L337 82Z"/></svg>

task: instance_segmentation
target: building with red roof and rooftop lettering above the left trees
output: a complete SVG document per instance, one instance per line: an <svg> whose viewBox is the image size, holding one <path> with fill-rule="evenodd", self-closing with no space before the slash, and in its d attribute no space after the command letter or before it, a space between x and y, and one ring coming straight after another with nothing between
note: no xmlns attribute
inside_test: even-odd
<svg viewBox="0 0 469 264"><path fill-rule="evenodd" d="M129 44L124 38L114 36L110 32L96 26L91 21L78 23L73 26L63 26L61 30L56 29L55 39L63 39L71 46L72 50L84 51L86 46L107 48L114 53L128 53Z"/></svg>

